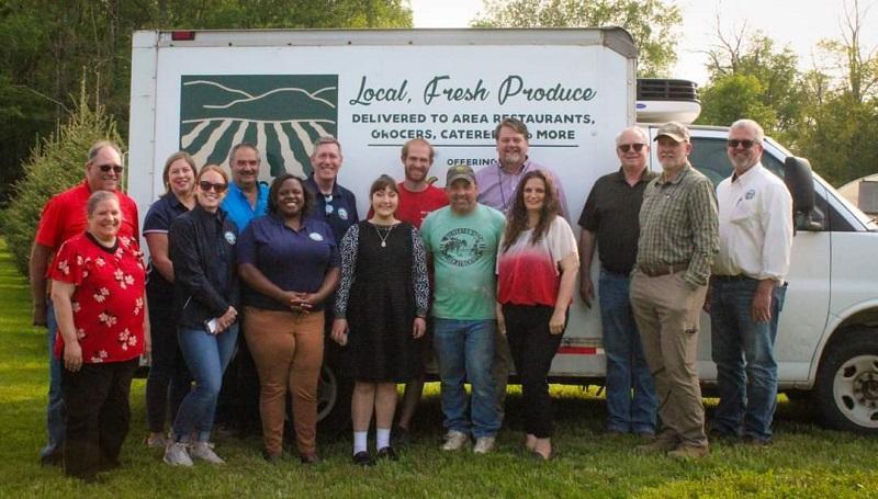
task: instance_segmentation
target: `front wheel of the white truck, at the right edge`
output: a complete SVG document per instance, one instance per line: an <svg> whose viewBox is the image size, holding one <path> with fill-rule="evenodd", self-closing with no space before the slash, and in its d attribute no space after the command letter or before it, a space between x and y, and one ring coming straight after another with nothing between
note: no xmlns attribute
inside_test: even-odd
<svg viewBox="0 0 878 499"><path fill-rule="evenodd" d="M878 434L878 331L853 330L830 345L815 396L829 427Z"/></svg>

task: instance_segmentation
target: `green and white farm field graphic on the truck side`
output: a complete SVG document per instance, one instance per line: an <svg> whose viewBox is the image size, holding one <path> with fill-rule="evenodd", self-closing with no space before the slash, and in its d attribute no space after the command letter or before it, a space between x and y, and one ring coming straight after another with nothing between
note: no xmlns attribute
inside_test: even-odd
<svg viewBox="0 0 878 499"><path fill-rule="evenodd" d="M337 75L183 76L180 148L199 166L227 165L246 141L262 154L262 180L307 175L316 139L337 134Z"/></svg>

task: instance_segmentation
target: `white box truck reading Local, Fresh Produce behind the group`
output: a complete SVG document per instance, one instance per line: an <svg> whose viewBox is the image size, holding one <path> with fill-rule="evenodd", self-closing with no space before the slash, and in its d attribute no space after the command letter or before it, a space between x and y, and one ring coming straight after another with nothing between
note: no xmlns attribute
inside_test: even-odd
<svg viewBox="0 0 878 499"><path fill-rule="evenodd" d="M199 165L227 165L240 141L261 151L263 180L307 175L313 143L334 135L345 157L339 183L358 195L363 215L379 174L402 179L406 140L434 144L432 174L441 179L451 165L488 166L494 126L515 116L530 128L530 157L559 174L575 227L595 180L618 168L614 139L623 127L639 115L655 123L697 116L691 83L639 87L635 75L637 47L620 29L140 31L130 193L145 213L164 192L168 155L185 149ZM693 163L714 182L731 171L725 133L693 128ZM786 178L799 211L776 345L780 387L813 395L833 427L878 433L878 265L868 262L878 254L876 226L812 179L807 161L770 139L765 149L764 163ZM661 168L655 157L651 165ZM698 368L709 386L716 366L709 318L701 322ZM600 338L598 310L577 298L553 381L603 383ZM334 427L348 421L351 383L328 347L319 416Z"/></svg>

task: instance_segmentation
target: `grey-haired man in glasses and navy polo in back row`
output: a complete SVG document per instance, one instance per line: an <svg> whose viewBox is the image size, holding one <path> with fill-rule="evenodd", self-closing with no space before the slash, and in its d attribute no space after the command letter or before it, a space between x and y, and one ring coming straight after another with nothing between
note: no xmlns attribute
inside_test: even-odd
<svg viewBox="0 0 878 499"><path fill-rule="evenodd" d="M337 181L341 161L341 144L335 137L318 138L311 155L314 171L305 180L305 189L314 194L315 200L315 209L311 216L329 224L336 243L341 242L348 227L360 222L357 215L357 197ZM331 307L327 306L327 309ZM331 320L327 318L327 324Z"/></svg>

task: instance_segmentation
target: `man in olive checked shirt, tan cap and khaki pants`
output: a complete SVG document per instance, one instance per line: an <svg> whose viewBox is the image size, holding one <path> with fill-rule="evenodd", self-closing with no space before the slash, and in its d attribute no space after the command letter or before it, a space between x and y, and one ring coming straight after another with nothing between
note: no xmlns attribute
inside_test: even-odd
<svg viewBox="0 0 878 499"><path fill-rule="evenodd" d="M693 146L684 125L663 125L655 140L663 171L643 193L631 306L662 428L654 442L638 450L701 457L708 442L696 351L710 265L719 251L717 200L710 180L689 163Z"/></svg>

